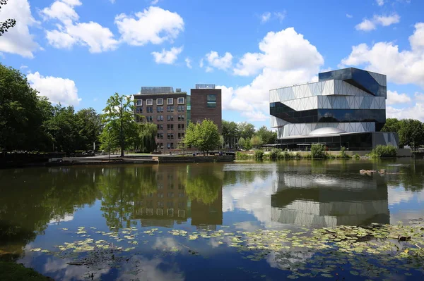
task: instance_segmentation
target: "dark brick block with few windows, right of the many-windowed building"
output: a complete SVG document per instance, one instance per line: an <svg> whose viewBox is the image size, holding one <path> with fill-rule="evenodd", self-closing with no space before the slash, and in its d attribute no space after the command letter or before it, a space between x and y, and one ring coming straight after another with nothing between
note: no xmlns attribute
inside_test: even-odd
<svg viewBox="0 0 424 281"><path fill-rule="evenodd" d="M192 122L201 122L208 118L216 123L219 132L222 128L221 89L215 89L213 84L196 84L196 89L190 90Z"/></svg>

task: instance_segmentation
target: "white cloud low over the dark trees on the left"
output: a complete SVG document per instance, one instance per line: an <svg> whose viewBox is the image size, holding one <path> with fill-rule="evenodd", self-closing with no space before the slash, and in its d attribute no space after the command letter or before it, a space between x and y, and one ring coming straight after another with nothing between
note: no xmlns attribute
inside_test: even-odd
<svg viewBox="0 0 424 281"><path fill-rule="evenodd" d="M40 96L47 96L54 104L66 104L76 106L81 99L78 97L78 89L73 80L61 77L42 76L40 73L27 75L31 87L40 92Z"/></svg>

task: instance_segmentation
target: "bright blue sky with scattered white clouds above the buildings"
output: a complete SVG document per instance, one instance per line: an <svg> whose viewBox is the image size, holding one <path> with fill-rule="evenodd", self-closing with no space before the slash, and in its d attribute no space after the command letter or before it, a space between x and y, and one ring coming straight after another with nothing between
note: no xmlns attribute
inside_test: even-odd
<svg viewBox="0 0 424 281"><path fill-rule="evenodd" d="M356 67L387 117L424 121L424 1L9 0L0 62L53 103L101 111L142 86L222 89L223 119L270 125L269 89Z"/></svg>

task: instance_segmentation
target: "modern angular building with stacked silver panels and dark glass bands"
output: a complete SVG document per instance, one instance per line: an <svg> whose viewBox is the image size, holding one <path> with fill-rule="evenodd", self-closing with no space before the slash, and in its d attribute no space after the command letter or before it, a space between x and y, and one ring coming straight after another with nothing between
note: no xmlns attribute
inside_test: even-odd
<svg viewBox="0 0 424 281"><path fill-rule="evenodd" d="M325 144L370 150L397 146L395 133L379 132L386 123L387 77L358 68L319 73L318 82L271 89L271 127L278 145L299 149Z"/></svg>

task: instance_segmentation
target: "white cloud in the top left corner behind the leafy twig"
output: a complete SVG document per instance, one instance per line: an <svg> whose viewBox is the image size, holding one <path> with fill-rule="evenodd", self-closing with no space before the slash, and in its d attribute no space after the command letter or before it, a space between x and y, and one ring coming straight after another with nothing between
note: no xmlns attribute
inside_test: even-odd
<svg viewBox="0 0 424 281"><path fill-rule="evenodd" d="M1 8L0 21L8 18L14 18L16 26L0 37L0 52L33 58L33 51L39 46L30 34L29 27L36 25L37 21L31 14L28 0L8 1L8 4Z"/></svg>

